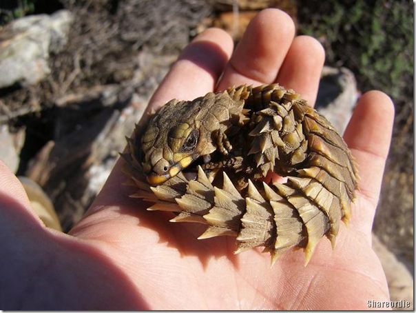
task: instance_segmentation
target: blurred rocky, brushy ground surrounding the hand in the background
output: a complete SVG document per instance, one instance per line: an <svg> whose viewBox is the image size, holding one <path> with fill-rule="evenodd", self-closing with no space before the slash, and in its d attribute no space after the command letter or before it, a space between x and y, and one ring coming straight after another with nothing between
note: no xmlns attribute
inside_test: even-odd
<svg viewBox="0 0 416 313"><path fill-rule="evenodd" d="M413 275L410 1L0 0L0 159L41 187L69 230L187 43L211 26L238 43L264 8L284 10L298 34L322 43L335 93L349 88L344 79L353 83L354 101L372 89L393 99L393 143L373 231Z"/></svg>

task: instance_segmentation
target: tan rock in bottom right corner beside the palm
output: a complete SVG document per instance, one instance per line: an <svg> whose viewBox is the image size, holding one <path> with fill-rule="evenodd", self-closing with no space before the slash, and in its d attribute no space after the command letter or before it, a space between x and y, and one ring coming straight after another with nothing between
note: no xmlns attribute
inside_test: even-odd
<svg viewBox="0 0 416 313"><path fill-rule="evenodd" d="M396 310L413 310L413 275L406 266L373 234L373 250L382 263L391 301L408 301L410 307Z"/></svg>

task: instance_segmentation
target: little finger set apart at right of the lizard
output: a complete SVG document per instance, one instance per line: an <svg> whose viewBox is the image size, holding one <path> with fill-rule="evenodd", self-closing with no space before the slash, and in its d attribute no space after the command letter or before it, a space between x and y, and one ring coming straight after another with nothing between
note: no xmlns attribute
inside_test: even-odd
<svg viewBox="0 0 416 313"><path fill-rule="evenodd" d="M358 101L344 139L358 164L360 194L375 206L391 143L394 105L383 92L371 91Z"/></svg>

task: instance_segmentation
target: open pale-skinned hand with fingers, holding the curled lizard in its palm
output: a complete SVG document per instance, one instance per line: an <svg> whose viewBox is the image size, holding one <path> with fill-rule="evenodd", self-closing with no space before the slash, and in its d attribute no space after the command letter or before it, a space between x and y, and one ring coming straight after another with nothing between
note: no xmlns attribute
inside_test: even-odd
<svg viewBox="0 0 416 313"><path fill-rule="evenodd" d="M196 37L149 109L242 83L278 82L312 104L323 63L318 41L295 37L287 14L264 10L234 51L222 30ZM393 116L383 92L358 101L344 134L361 176L353 216L348 227L342 223L335 249L323 238L306 267L302 250L270 267L260 249L234 255L233 238L198 240L202 225L170 223L170 213L145 210L128 196L134 190L123 185L121 161L70 234L49 230L0 162L0 308L361 310L368 300L388 301L371 227Z"/></svg>

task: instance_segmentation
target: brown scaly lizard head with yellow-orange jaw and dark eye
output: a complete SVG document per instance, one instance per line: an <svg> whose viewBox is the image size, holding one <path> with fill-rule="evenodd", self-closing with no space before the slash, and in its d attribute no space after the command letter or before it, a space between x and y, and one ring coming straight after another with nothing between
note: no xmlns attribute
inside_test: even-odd
<svg viewBox="0 0 416 313"><path fill-rule="evenodd" d="M208 135L198 122L194 107L167 103L150 119L141 137L143 170L150 185L176 176L200 156L214 152Z"/></svg>

